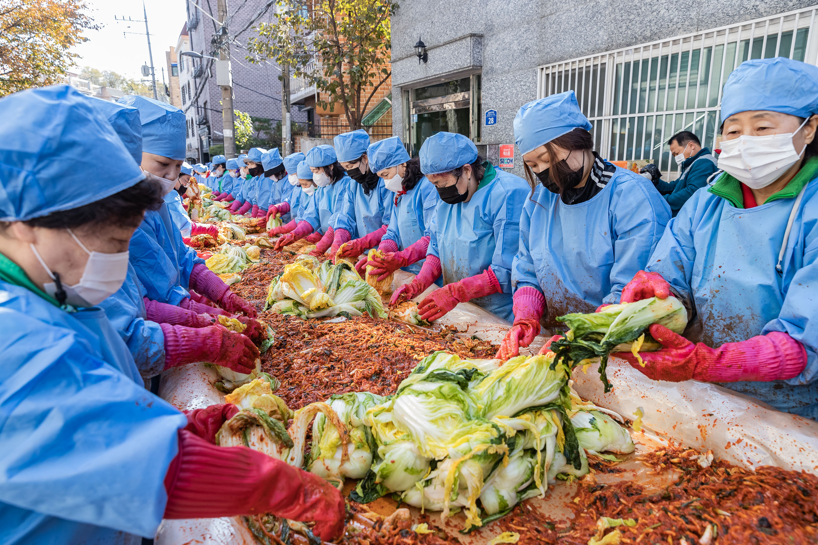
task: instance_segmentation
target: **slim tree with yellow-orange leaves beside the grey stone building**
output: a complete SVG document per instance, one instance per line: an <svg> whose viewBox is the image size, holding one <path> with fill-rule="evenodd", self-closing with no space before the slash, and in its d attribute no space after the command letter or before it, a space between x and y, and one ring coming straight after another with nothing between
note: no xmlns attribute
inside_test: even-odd
<svg viewBox="0 0 818 545"><path fill-rule="evenodd" d="M247 60L288 63L293 76L321 92L318 105L344 108L351 130L392 74L389 19L393 0L279 0L277 16L250 38ZM318 67L312 60L318 61ZM323 100L326 96L326 100Z"/></svg>

